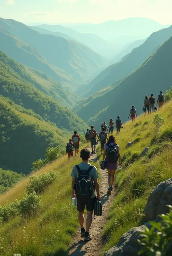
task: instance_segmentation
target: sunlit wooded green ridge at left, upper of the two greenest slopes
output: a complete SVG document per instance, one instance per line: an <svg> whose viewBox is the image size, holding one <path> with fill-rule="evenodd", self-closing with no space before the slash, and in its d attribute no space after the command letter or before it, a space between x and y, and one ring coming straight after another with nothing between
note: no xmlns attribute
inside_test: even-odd
<svg viewBox="0 0 172 256"><path fill-rule="evenodd" d="M55 99L36 89L31 81L26 81L26 70L19 63L0 53L0 94L8 97L25 109L32 109L45 121L56 123L67 130L85 131L87 125L67 107L62 107ZM23 70L23 72L22 72ZM26 78L26 80L25 80Z"/></svg>

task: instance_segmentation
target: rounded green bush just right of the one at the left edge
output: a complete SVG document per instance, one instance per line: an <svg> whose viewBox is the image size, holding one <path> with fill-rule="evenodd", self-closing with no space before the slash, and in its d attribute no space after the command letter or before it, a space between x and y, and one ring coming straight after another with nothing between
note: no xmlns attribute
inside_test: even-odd
<svg viewBox="0 0 172 256"><path fill-rule="evenodd" d="M41 207L41 196L37 196L36 192L26 194L19 204L19 214L23 218L30 218L36 216Z"/></svg>

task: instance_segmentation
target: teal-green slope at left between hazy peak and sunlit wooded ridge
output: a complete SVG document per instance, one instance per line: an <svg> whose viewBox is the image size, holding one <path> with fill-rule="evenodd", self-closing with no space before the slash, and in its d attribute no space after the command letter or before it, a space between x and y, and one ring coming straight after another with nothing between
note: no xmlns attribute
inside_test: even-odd
<svg viewBox="0 0 172 256"><path fill-rule="evenodd" d="M64 70L51 64L45 57L43 57L36 48L32 45L24 42L8 32L0 25L0 50L14 58L16 61L29 66L31 68L40 70L48 74L50 77L58 82L61 82L64 86L67 86L70 90L74 90L78 87L78 81L67 74Z"/></svg>

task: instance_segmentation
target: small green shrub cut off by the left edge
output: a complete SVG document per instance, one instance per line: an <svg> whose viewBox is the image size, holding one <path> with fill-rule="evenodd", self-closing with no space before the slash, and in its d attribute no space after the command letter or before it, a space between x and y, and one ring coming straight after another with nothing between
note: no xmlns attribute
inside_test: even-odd
<svg viewBox="0 0 172 256"><path fill-rule="evenodd" d="M0 207L0 218L2 222L7 222L10 218L18 214L19 202L16 200L13 203L5 204Z"/></svg>

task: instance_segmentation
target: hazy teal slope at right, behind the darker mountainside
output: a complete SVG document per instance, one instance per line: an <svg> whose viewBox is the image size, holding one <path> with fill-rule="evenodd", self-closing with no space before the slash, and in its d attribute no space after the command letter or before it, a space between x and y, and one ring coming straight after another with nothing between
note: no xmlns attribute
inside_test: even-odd
<svg viewBox="0 0 172 256"><path fill-rule="evenodd" d="M82 86L79 88L78 93L82 92L82 96L88 97L94 92L105 88L106 86L114 83L124 76L131 74L138 66L140 66L150 55L156 50L157 46L160 46L169 37L172 36L172 26L169 28L162 29L158 32L151 34L147 40L135 48L131 54L128 54L120 62L117 62L101 74L99 74L93 81L91 81L87 87L90 91L85 92L85 88L82 90Z"/></svg>

